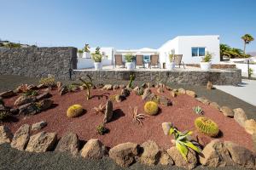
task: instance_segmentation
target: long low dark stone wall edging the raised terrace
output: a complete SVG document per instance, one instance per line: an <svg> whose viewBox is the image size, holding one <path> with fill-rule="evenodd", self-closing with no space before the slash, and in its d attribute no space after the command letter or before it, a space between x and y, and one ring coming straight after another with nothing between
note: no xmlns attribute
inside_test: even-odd
<svg viewBox="0 0 256 170"><path fill-rule="evenodd" d="M89 75L96 81L130 80L134 74L137 81L164 82L175 84L207 85L211 81L214 85L237 85L241 82L241 70L212 70L212 71L74 71L74 77Z"/></svg>

